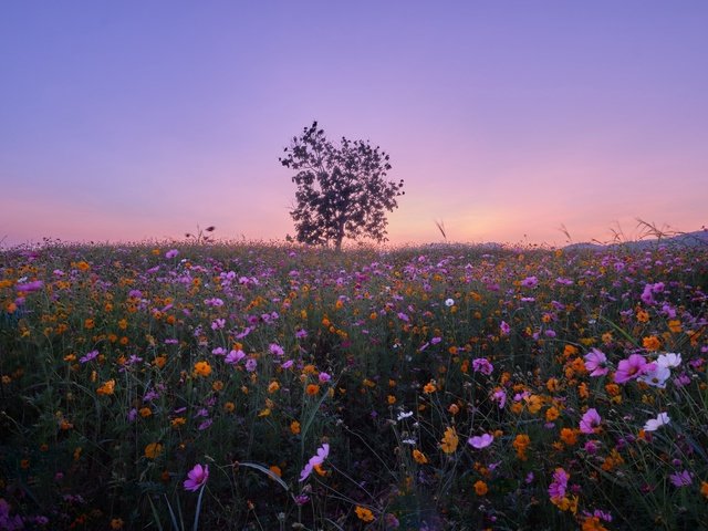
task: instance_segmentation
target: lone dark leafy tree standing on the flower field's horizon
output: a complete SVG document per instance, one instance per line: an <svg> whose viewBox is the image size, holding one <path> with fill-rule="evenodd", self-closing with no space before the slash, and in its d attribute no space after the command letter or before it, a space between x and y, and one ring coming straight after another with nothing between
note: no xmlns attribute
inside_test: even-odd
<svg viewBox="0 0 708 531"><path fill-rule="evenodd" d="M386 180L391 169L388 155L368 140L342 137L335 146L317 128L305 127L293 137L280 163L296 174L296 206L290 215L295 222L296 239L303 243L329 246L340 250L344 238L365 236L386 241L385 211L398 207L403 179Z"/></svg>

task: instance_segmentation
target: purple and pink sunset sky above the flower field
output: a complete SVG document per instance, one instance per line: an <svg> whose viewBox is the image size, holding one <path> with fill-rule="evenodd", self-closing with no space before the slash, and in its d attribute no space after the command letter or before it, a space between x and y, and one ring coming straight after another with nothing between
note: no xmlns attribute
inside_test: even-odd
<svg viewBox="0 0 708 531"><path fill-rule="evenodd" d="M708 225L708 2L0 3L0 240L283 240L317 121L393 244Z"/></svg>

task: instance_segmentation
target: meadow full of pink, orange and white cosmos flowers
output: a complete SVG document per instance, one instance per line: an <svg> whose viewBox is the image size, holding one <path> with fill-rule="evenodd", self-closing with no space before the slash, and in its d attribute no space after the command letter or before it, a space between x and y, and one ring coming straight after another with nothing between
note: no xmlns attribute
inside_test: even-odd
<svg viewBox="0 0 708 531"><path fill-rule="evenodd" d="M708 529L708 248L0 251L0 529Z"/></svg>

